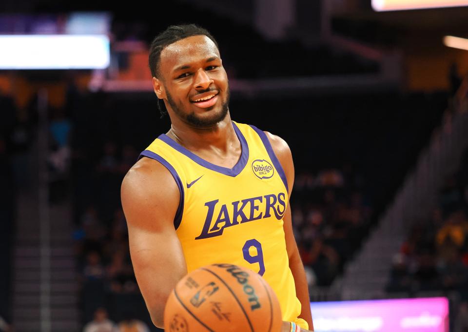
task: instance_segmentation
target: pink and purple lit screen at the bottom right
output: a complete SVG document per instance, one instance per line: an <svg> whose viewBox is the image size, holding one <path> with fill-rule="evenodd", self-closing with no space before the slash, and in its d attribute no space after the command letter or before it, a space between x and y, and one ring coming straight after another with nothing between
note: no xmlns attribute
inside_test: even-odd
<svg viewBox="0 0 468 332"><path fill-rule="evenodd" d="M311 302L315 332L448 332L445 297Z"/></svg>

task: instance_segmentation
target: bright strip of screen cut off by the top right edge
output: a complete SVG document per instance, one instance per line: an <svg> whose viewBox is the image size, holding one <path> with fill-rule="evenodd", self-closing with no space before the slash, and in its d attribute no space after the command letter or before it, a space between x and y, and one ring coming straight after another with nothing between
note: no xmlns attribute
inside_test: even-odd
<svg viewBox="0 0 468 332"><path fill-rule="evenodd" d="M372 0L372 8L378 12L459 6L468 6L468 0Z"/></svg>

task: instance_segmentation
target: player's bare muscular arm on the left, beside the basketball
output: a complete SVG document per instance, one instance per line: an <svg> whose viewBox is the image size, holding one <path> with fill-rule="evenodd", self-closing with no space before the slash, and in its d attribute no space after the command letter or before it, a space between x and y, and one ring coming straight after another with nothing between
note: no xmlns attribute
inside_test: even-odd
<svg viewBox="0 0 468 332"><path fill-rule="evenodd" d="M164 306L176 283L187 274L174 217L179 190L158 161L140 159L122 182L130 255L151 320L163 328Z"/></svg>

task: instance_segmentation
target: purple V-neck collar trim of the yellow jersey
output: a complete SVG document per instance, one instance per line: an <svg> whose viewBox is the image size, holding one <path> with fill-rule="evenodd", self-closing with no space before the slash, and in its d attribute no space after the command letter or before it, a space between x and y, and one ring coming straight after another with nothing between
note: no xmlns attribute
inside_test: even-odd
<svg viewBox="0 0 468 332"><path fill-rule="evenodd" d="M218 165L212 164L211 162L206 161L205 159L200 158L199 156L187 150L186 148L184 148L182 145L177 143L174 139L167 136L166 134L161 134L157 138L162 140L164 143L170 145L171 147L176 149L181 154L188 156L190 159L195 161L198 165L201 165L212 171L234 177L234 176L238 176L240 172L242 172L242 170L245 168L245 165L247 165L247 161L249 160L249 145L247 144L247 141L245 140L244 135L242 135L241 131L239 130L239 128L237 128L235 123L234 122L231 122L231 123L233 124L234 132L237 135L237 138L239 139L240 145L242 147L242 153L240 155L240 158L239 160L237 160L237 163L234 165L233 168L218 166Z"/></svg>

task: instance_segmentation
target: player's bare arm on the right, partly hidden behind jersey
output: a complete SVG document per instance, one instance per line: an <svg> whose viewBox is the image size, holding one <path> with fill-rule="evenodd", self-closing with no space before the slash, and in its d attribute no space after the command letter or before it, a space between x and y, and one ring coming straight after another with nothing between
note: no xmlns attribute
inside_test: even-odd
<svg viewBox="0 0 468 332"><path fill-rule="evenodd" d="M281 138L267 134L270 143L272 144L273 151L277 156L288 181L289 197L291 197L292 186L294 184L294 164L292 163L291 149L288 144ZM301 302L301 314L299 318L304 319L309 324L309 330L313 331L312 313L309 298L309 288L307 285L306 273L302 260L297 249L297 244L292 233L292 220L291 220L291 207L288 202L288 208L283 216L283 228L286 239L286 250L289 257L289 268L291 269L292 276L296 287L296 296Z"/></svg>

